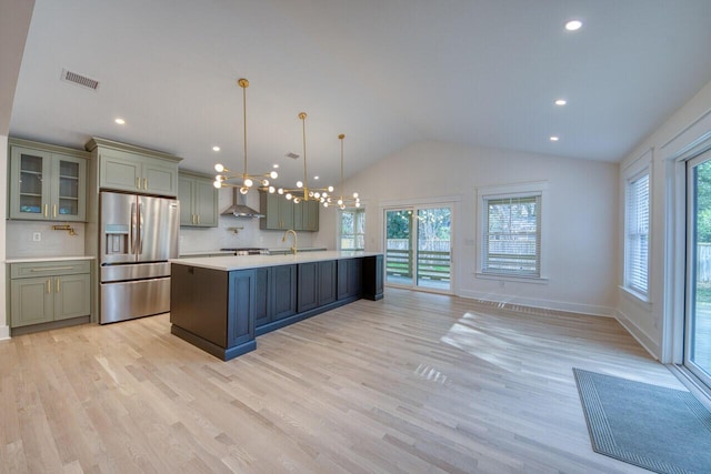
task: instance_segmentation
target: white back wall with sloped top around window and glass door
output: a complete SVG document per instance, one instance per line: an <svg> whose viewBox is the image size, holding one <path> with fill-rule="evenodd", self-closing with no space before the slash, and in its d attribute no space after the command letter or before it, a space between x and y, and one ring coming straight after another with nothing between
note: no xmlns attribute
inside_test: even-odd
<svg viewBox="0 0 711 474"><path fill-rule="evenodd" d="M542 212L547 284L483 280L477 266L477 186L548 181ZM458 196L455 293L539 307L613 315L617 306L619 171L613 163L424 142L411 145L346 183L365 205L365 248L382 251L381 205L398 200ZM336 213L321 211L314 243L333 246Z"/></svg>

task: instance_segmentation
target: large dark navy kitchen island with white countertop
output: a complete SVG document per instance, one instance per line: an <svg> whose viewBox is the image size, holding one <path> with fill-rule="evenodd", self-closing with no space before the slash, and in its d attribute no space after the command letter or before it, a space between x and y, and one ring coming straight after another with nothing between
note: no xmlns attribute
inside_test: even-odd
<svg viewBox="0 0 711 474"><path fill-rule="evenodd" d="M171 260L171 333L229 361L256 336L361 297L383 296L375 252Z"/></svg>

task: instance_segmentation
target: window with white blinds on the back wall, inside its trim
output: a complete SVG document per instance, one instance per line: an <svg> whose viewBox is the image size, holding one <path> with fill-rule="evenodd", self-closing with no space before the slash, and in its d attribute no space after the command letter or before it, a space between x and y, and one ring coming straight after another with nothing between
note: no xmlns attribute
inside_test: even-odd
<svg viewBox="0 0 711 474"><path fill-rule="evenodd" d="M482 196L482 273L541 276L541 198Z"/></svg>

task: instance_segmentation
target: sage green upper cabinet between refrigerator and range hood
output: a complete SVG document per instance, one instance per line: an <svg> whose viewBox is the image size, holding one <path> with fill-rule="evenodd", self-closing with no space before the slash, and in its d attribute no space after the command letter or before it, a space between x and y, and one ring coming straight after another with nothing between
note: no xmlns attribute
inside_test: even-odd
<svg viewBox="0 0 711 474"><path fill-rule="evenodd" d="M178 179L180 201L180 225L192 228L217 228L218 190L214 179L207 174L181 171Z"/></svg>

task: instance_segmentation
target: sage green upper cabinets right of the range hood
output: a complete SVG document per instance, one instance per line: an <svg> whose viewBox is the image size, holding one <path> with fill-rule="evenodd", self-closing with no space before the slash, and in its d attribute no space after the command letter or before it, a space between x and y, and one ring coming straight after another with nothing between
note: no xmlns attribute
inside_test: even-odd
<svg viewBox="0 0 711 474"><path fill-rule="evenodd" d="M264 219L259 222L262 230L319 230L319 201L294 204L282 195L260 191L259 203L259 211L264 214Z"/></svg>

